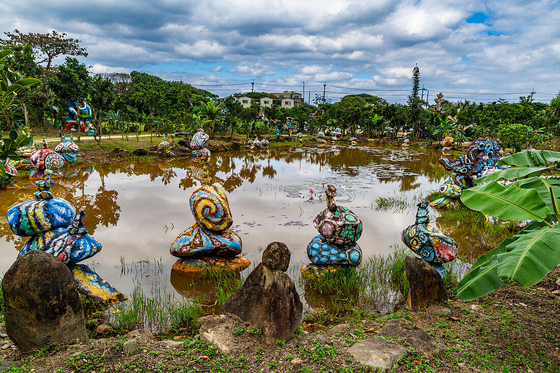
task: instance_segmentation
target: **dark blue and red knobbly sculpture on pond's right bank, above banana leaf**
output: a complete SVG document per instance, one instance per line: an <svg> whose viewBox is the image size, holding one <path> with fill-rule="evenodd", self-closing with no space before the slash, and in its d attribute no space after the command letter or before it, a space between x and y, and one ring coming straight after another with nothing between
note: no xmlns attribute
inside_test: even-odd
<svg viewBox="0 0 560 373"><path fill-rule="evenodd" d="M474 186L474 180L482 175L482 172L496 167L500 160L501 146L497 139L477 138L466 150L466 154L458 160L449 157L441 157L440 164L446 171L454 171L453 181L463 188Z"/></svg>

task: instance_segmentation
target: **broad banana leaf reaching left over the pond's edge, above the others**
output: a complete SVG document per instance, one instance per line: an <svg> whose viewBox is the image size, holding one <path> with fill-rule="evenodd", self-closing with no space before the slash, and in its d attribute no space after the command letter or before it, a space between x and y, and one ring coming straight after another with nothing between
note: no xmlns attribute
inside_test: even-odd
<svg viewBox="0 0 560 373"><path fill-rule="evenodd" d="M461 201L473 210L506 221L543 221L549 211L536 190L518 186L505 188L496 181L463 190Z"/></svg>

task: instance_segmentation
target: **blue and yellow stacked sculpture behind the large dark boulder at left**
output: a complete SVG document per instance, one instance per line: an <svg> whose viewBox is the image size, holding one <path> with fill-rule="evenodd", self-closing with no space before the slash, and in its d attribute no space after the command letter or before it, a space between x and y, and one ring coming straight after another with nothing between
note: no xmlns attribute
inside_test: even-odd
<svg viewBox="0 0 560 373"><path fill-rule="evenodd" d="M50 188L55 183L49 178L50 173L52 171L46 170L46 179L35 181L38 188L35 199L16 204L6 213L12 232L30 236L18 256L30 250L41 250L60 259L74 274L82 300L103 306L126 300L126 296L87 265L77 264L97 254L101 244L83 227L84 207L76 213L71 203L53 197Z"/></svg>

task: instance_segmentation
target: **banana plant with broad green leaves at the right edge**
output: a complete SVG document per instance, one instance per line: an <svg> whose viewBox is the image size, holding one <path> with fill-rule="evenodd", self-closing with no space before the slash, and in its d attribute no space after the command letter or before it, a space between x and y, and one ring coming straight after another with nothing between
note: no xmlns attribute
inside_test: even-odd
<svg viewBox="0 0 560 373"><path fill-rule="evenodd" d="M527 156L532 153L527 151L508 157L506 162L515 163L518 160L520 163L514 166L522 166L511 170L533 168L540 174L542 167L525 165L542 165L545 159L557 162L560 157L560 153L540 152L529 161ZM501 172L505 175L505 171ZM530 172L524 173L531 175ZM534 177L506 186L491 181L463 191L461 201L469 208L506 221L530 219L535 222L477 260L460 282L457 294L461 299L471 300L486 295L508 281L515 281L521 286L535 285L556 268L560 263L558 185L559 180ZM552 225L553 220L555 225Z"/></svg>

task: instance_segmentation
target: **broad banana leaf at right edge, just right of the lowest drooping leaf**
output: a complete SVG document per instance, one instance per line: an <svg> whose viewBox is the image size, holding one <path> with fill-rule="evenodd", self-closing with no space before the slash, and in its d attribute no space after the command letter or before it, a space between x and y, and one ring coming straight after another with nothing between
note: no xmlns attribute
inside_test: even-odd
<svg viewBox="0 0 560 373"><path fill-rule="evenodd" d="M560 263L560 227L522 231L498 254L498 277L531 286Z"/></svg>

